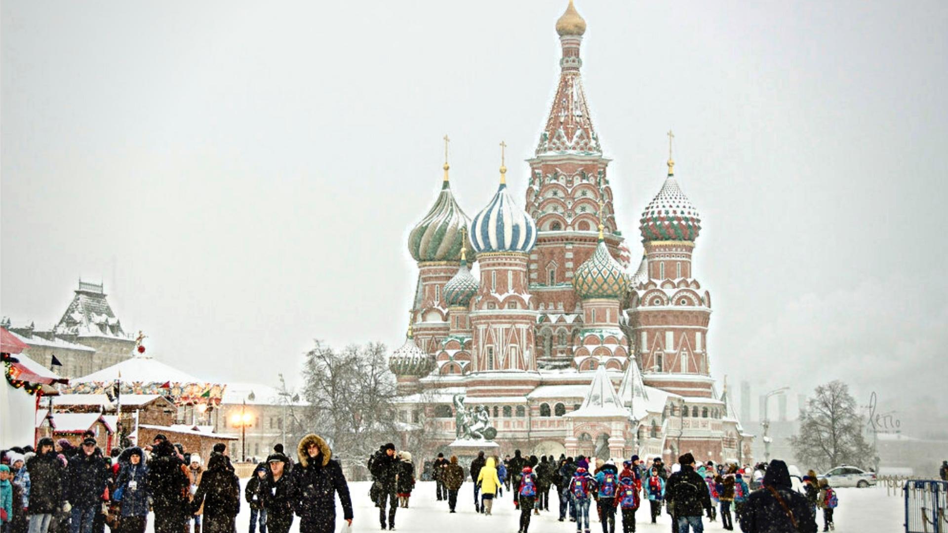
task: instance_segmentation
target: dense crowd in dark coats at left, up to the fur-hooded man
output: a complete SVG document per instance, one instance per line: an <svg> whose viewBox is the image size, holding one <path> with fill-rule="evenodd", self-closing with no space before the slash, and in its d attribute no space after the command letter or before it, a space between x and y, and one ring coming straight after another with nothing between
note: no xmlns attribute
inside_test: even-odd
<svg viewBox="0 0 948 533"><path fill-rule="evenodd" d="M306 435L297 455L294 462L276 445L242 495L224 444L214 445L205 468L199 451L163 434L108 454L91 432L78 447L41 438L35 449L2 454L0 533L144 533L150 516L155 533L235 533L242 499L250 533L258 524L260 533L287 533L296 517L301 533L331 533L336 495L352 524L349 488L326 442Z"/></svg>

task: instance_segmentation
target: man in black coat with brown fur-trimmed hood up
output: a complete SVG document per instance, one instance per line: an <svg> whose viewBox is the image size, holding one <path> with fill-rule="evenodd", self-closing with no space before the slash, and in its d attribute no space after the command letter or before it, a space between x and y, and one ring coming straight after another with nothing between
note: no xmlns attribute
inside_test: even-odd
<svg viewBox="0 0 948 533"><path fill-rule="evenodd" d="M297 447L300 463L290 470L294 491L293 510L300 517L300 533L332 533L336 528L336 492L342 504L342 518L353 523L353 502L349 485L329 445L310 433Z"/></svg>

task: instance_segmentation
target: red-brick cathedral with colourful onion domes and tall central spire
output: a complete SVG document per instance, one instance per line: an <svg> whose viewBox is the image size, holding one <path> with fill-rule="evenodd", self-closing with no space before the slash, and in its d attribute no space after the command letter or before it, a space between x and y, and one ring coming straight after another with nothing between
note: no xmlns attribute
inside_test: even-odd
<svg viewBox="0 0 948 533"><path fill-rule="evenodd" d="M468 217L446 160L441 193L410 231L418 280L408 339L390 357L400 421L411 431L424 419L426 441L447 446L463 395L491 415L501 453L748 463L753 436L710 375L711 296L691 262L701 218L670 150L629 269L580 76L585 31L571 0L524 207L501 162L497 193Z"/></svg>

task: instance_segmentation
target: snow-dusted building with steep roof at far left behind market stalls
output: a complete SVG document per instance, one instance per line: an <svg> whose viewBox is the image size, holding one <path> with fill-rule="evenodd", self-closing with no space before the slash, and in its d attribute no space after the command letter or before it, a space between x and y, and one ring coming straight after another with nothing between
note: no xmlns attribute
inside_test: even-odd
<svg viewBox="0 0 948 533"><path fill-rule="evenodd" d="M63 364L56 369L60 376L85 376L131 358L135 346L106 296L102 284L80 280L63 318L51 329L36 329L33 322L12 324L9 317L0 325L26 342L24 353L46 368L56 356Z"/></svg>

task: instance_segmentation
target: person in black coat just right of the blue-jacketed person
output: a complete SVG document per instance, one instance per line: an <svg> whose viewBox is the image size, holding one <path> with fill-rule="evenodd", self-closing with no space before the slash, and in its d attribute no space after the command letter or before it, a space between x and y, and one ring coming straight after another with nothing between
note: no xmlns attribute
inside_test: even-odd
<svg viewBox="0 0 948 533"><path fill-rule="evenodd" d="M181 533L188 516L188 488L191 482L168 440L159 441L148 462L148 487L155 511L155 533ZM203 481L203 480L202 480Z"/></svg>

